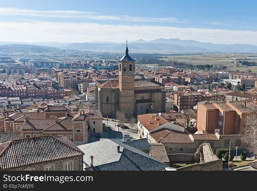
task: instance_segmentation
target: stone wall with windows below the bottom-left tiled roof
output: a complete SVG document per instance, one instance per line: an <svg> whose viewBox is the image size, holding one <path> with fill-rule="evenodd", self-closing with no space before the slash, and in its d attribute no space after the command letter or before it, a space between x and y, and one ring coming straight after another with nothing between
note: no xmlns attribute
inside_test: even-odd
<svg viewBox="0 0 257 191"><path fill-rule="evenodd" d="M44 162L44 163L39 163L39 164L34 164L34 165L29 165L29 166L24 166L20 168L15 168L15 169L9 169L11 171L23 171L27 170L27 168L34 169L36 171L43 171L44 166L48 165L53 165L53 170L55 171L62 171L63 170L63 162L66 161L71 161L72 162L72 171L82 171L83 170L83 156L78 156L78 157L72 157L72 158L66 158L62 160L56 160L56 161L51 161L51 162Z"/></svg>

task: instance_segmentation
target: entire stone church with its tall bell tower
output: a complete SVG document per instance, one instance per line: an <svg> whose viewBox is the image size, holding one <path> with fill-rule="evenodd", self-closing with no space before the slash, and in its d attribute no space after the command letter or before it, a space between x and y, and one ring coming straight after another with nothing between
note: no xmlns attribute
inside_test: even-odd
<svg viewBox="0 0 257 191"><path fill-rule="evenodd" d="M119 80L110 80L95 89L95 107L103 116L115 117L118 110L128 116L165 111L165 92L147 80L135 81L135 60L126 54L119 60Z"/></svg>

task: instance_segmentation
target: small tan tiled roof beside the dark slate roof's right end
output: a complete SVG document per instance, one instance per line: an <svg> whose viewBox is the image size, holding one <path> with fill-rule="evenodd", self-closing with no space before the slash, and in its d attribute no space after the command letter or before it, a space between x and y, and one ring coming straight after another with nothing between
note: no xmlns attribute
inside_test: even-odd
<svg viewBox="0 0 257 191"><path fill-rule="evenodd" d="M165 147L162 143L151 143L149 155L164 163L170 162Z"/></svg>

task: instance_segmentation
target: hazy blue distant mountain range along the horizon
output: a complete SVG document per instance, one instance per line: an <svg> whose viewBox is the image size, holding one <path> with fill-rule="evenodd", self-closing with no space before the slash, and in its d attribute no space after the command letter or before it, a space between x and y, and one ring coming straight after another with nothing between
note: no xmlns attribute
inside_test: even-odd
<svg viewBox="0 0 257 191"><path fill-rule="evenodd" d="M117 43L112 41L90 41L84 43L60 43L60 42L1 42L4 44L25 44L55 47L60 49L76 49L96 52L123 52L126 46L125 42ZM158 38L152 41L129 42L129 50L131 52L156 52L156 53L172 53L172 52L257 52L256 45L249 44L214 44L202 43L194 40L180 40L178 38Z"/></svg>

